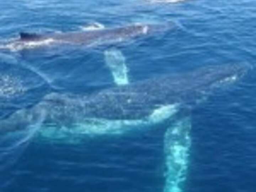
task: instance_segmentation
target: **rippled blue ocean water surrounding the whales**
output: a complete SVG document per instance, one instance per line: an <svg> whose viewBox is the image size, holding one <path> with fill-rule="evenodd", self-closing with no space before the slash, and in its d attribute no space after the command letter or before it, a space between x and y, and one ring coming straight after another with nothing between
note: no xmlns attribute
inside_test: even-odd
<svg viewBox="0 0 256 192"><path fill-rule="evenodd" d="M2 1L0 40L21 31L79 31L95 22L106 28L174 22L167 33L116 46L126 57L131 81L137 82L201 66L254 65L255 5L252 0ZM114 86L105 48L2 50L1 120L53 90L90 94ZM185 192L255 191L255 82L249 74L192 109ZM24 143L1 140L0 191L163 191L165 128L87 137L80 143L36 142L30 136Z"/></svg>

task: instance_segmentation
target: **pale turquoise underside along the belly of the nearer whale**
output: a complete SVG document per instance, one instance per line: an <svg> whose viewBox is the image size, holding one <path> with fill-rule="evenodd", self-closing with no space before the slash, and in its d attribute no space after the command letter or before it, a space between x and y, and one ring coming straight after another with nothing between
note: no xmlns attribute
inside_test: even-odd
<svg viewBox="0 0 256 192"><path fill-rule="evenodd" d="M44 139L77 143L83 135L95 137L97 135L122 135L127 132L145 130L156 124L170 119L178 111L178 104L165 105L154 110L142 119L104 119L87 118L83 122L75 123L72 127L58 127L48 125L39 130L39 136Z"/></svg>

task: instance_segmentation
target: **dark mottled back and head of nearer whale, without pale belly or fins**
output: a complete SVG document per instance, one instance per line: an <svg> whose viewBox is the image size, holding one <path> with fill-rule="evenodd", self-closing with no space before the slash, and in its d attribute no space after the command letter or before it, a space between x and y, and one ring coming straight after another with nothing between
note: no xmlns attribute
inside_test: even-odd
<svg viewBox="0 0 256 192"><path fill-rule="evenodd" d="M2 120L0 132L24 129L36 122L72 127L92 119L107 122L147 119L164 106L194 105L212 90L238 81L248 69L249 65L242 64L205 66L192 72L155 77L92 95L49 94L37 105Z"/></svg>

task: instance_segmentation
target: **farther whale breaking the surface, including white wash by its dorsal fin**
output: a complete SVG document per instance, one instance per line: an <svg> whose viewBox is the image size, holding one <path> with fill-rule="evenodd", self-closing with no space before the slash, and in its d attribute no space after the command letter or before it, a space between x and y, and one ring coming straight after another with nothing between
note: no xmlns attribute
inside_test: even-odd
<svg viewBox="0 0 256 192"><path fill-rule="evenodd" d="M50 44L78 44L85 46L98 46L123 42L128 39L148 36L173 28L174 23L166 24L133 24L117 28L99 28L90 31L74 31L66 33L27 33L20 32L20 37L13 42L1 46L10 50L21 50Z"/></svg>

